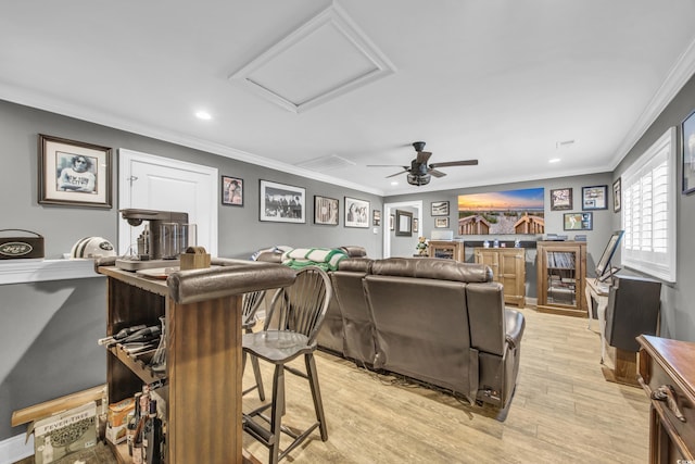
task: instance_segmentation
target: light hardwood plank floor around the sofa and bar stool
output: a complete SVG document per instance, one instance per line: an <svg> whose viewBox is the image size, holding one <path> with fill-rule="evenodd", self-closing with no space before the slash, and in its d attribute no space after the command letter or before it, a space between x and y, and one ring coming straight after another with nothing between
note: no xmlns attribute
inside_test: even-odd
<svg viewBox="0 0 695 464"><path fill-rule="evenodd" d="M329 439L318 431L288 463L646 463L649 404L640 388L604 380L598 335L587 321L521 310L527 318L515 398L494 411L318 352ZM597 322L592 322L597 329ZM269 397L271 371L261 362ZM303 365L303 363L301 363ZM287 375L288 425L313 415L306 381ZM244 386L253 383L252 369ZM244 411L258 404L255 392ZM244 434L262 462L267 450Z"/></svg>

